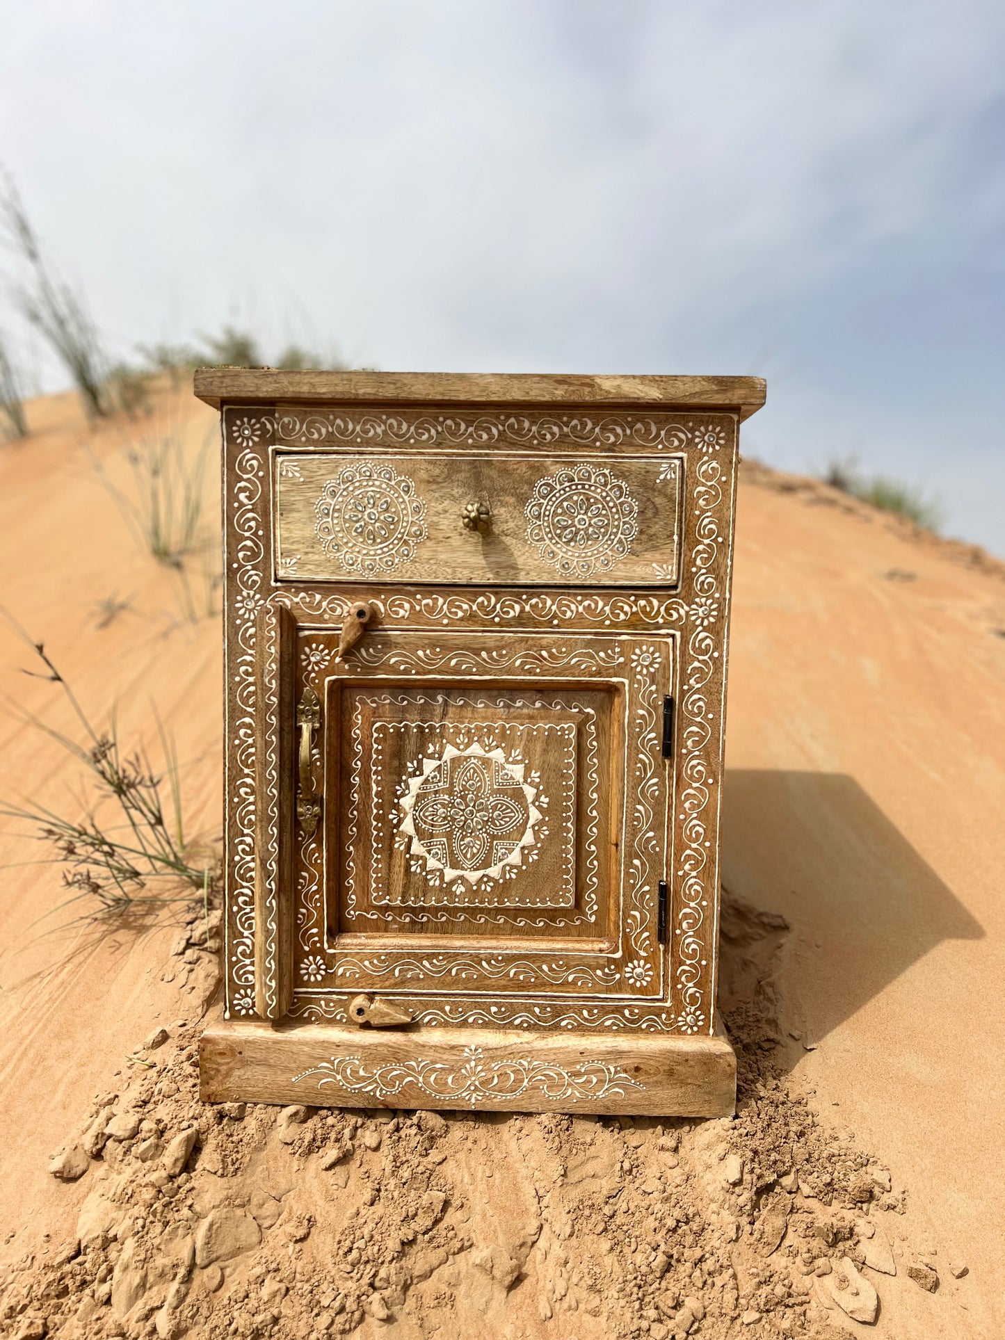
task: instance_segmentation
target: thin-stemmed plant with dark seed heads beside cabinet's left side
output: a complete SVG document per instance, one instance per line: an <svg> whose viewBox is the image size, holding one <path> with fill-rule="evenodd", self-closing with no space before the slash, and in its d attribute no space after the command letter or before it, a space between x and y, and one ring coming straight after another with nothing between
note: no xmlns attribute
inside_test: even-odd
<svg viewBox="0 0 1005 1340"><path fill-rule="evenodd" d="M83 741L75 740L21 713L90 775L91 793L80 817L31 803L0 804L0 815L27 824L27 836L50 850L43 860L63 867L70 896L60 910L83 902L82 917L75 919L110 921L154 904L205 900L218 879L218 858L200 854L185 836L178 760L159 717L162 773L153 770L142 746L125 752L114 714L106 730L91 724L44 643L35 642L11 614L3 612L42 667L24 673L59 685L83 732Z"/></svg>

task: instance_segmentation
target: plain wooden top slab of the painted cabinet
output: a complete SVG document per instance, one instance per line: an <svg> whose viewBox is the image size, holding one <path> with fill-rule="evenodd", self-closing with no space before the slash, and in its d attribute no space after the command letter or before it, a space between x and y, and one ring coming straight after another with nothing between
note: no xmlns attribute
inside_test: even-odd
<svg viewBox="0 0 1005 1340"><path fill-rule="evenodd" d="M587 377L544 373L283 373L269 367L200 367L198 399L222 402L359 401L402 405L608 405L667 410L734 410L740 418L765 401L761 377Z"/></svg>

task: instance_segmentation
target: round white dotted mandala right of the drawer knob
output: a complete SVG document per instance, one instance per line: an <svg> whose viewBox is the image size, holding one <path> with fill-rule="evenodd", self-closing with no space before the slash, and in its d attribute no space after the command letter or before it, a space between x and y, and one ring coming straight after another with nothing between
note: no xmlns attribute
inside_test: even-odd
<svg viewBox="0 0 1005 1340"><path fill-rule="evenodd" d="M606 466L575 465L537 480L527 515L527 543L552 568L588 578L631 552L638 503Z"/></svg>

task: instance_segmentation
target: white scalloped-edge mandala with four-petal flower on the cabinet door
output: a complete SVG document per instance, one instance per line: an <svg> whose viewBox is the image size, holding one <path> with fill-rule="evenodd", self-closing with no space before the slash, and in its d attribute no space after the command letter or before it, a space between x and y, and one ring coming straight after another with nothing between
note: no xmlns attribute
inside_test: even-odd
<svg viewBox="0 0 1005 1340"><path fill-rule="evenodd" d="M524 781L524 764L508 761L501 749L445 745L405 780L398 832L411 839L410 855L425 860L427 875L470 884L503 879L537 842L536 788Z"/></svg>

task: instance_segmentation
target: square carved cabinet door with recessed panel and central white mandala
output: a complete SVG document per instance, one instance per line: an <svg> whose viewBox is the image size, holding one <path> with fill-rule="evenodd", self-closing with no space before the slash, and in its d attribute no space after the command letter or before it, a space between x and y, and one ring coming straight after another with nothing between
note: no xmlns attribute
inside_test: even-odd
<svg viewBox="0 0 1005 1340"><path fill-rule="evenodd" d="M336 645L299 630L297 699L319 710L296 992L407 996L419 1016L456 994L658 998L673 638L378 628L340 662Z"/></svg>

